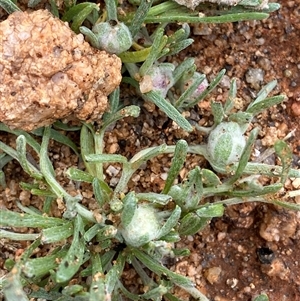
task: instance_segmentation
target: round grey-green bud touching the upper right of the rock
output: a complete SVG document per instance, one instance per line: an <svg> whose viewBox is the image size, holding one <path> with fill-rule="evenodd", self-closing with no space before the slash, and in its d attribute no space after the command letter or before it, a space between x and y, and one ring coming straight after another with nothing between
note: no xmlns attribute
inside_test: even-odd
<svg viewBox="0 0 300 301"><path fill-rule="evenodd" d="M128 27L118 21L102 22L94 25L95 34L100 48L109 53L119 54L132 45L132 36Z"/></svg>

